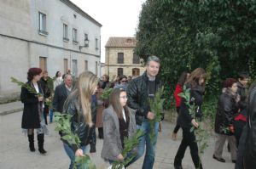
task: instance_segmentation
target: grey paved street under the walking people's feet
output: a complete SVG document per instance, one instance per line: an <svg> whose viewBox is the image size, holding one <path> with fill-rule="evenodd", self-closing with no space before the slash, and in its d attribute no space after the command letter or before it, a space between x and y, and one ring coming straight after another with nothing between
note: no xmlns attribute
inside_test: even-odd
<svg viewBox="0 0 256 169"><path fill-rule="evenodd" d="M47 155L39 155L37 149L37 141L35 145L37 151L32 153L28 149L27 137L21 133L20 119L21 112L0 115L0 168L1 169L64 169L68 168L69 159L62 148L61 140L57 132L54 131L54 124L49 124L49 136L45 137L44 147L48 151ZM181 132L178 132L177 141L171 139L171 131L173 125L163 122L163 132L160 133L154 168L155 169L172 169L174 155L180 144ZM230 161L230 155L227 153L226 146L224 148L224 159L226 163L221 163L212 159L214 147L214 138L209 138L209 147L206 149L202 158L205 169L233 169L234 164ZM97 139L97 153L94 155L93 161L97 168L107 168L108 163L104 162L100 157L102 150L102 140ZM143 158L133 164L129 169L138 169L142 167ZM184 169L193 169L193 163L187 149L183 160Z"/></svg>

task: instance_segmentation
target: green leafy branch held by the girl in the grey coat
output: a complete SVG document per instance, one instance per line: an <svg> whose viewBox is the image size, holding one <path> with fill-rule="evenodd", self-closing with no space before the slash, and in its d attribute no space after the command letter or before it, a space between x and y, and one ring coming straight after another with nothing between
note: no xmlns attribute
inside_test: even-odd
<svg viewBox="0 0 256 169"><path fill-rule="evenodd" d="M124 149L122 151L123 157L125 157L125 161L113 161L112 169L122 169L126 164L132 161L137 155L137 152L134 150L139 143L139 138L144 135L142 130L137 130L136 134L134 134L131 138L125 138L124 140ZM129 156L127 156L129 155Z"/></svg>

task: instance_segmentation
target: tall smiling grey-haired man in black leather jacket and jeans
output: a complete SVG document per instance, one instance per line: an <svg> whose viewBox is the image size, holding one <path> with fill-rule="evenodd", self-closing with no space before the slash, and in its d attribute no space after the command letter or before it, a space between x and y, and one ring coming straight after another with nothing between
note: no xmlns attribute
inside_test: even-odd
<svg viewBox="0 0 256 169"><path fill-rule="evenodd" d="M132 162L137 161L137 159L143 155L146 145L146 155L143 162L143 169L152 169L154 166L155 145L159 123L155 123L155 137L153 140L150 140L149 134L151 129L149 120L154 119L154 112L151 112L150 110L148 99L154 98L154 94L160 88L160 80L157 76L159 69L160 59L156 56L148 57L146 72L142 76L131 80L127 87L128 106L131 107L131 109L137 110L137 129L141 129L143 132L145 132L145 135L140 138L137 146L137 157Z"/></svg>

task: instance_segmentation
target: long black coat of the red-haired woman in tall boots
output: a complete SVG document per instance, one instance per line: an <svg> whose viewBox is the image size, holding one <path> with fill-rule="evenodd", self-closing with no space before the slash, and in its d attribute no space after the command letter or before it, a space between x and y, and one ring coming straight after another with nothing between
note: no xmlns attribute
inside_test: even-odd
<svg viewBox="0 0 256 169"><path fill-rule="evenodd" d="M26 82L33 87L32 82ZM43 93L42 87L38 82L39 92ZM26 87L21 87L20 100L24 104L21 128L31 129L40 128L40 118L38 112L38 97L30 93ZM42 103L40 103L42 104Z"/></svg>

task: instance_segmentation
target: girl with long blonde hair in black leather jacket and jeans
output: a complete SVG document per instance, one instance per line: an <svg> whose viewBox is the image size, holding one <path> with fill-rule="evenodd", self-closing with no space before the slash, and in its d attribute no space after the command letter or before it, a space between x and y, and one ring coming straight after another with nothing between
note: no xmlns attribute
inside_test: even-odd
<svg viewBox="0 0 256 169"><path fill-rule="evenodd" d="M70 158L70 169L73 169L75 156L83 156L90 144L90 153L96 152L96 104L92 102L92 95L96 93L97 77L90 71L79 75L77 88L70 93L64 104L63 113L71 115L71 129L80 139L79 147L63 141L64 149ZM64 133L62 133L63 136ZM79 167L79 166L75 166Z"/></svg>

